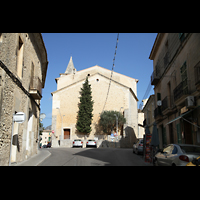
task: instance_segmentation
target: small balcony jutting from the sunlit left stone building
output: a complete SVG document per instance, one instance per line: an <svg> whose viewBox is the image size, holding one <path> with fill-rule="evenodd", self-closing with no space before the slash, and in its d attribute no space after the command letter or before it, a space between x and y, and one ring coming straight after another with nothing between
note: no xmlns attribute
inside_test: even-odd
<svg viewBox="0 0 200 200"><path fill-rule="evenodd" d="M39 77L34 76L31 79L29 93L34 99L40 100L42 98L42 83Z"/></svg>

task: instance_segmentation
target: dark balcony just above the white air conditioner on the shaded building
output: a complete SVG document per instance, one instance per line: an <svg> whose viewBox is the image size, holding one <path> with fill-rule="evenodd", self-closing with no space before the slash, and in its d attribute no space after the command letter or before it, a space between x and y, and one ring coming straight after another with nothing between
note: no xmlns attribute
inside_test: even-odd
<svg viewBox="0 0 200 200"><path fill-rule="evenodd" d="M181 82L175 89L174 89L174 102L176 104L181 103L181 101L187 97L189 94L187 82ZM178 103L179 102L179 103Z"/></svg>

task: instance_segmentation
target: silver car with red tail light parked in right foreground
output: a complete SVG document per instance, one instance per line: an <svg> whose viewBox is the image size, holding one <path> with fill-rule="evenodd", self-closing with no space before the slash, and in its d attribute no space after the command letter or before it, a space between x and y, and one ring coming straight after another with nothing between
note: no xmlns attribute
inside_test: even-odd
<svg viewBox="0 0 200 200"><path fill-rule="evenodd" d="M154 165L186 166L200 156L200 146L191 144L169 144L155 155Z"/></svg>

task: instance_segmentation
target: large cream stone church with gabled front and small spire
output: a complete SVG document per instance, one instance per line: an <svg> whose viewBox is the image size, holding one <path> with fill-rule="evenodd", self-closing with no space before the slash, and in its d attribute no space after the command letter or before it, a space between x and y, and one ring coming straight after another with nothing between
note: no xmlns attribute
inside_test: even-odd
<svg viewBox="0 0 200 200"><path fill-rule="evenodd" d="M92 132L89 136L78 133L76 129L78 103L82 84L88 76L94 100ZM99 127L111 71L98 65L76 71L72 57L65 73L56 78L57 90L52 92L52 146L71 146L74 139L109 140ZM113 72L110 92L104 110L116 110L124 114L126 124L118 131L118 146L132 147L138 135L137 79Z"/></svg>

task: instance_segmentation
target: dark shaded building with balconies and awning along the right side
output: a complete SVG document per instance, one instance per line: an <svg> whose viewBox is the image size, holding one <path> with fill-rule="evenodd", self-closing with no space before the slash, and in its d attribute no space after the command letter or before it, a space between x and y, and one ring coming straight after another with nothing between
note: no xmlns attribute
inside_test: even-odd
<svg viewBox="0 0 200 200"><path fill-rule="evenodd" d="M200 145L200 34L158 33L149 59L160 147Z"/></svg>

